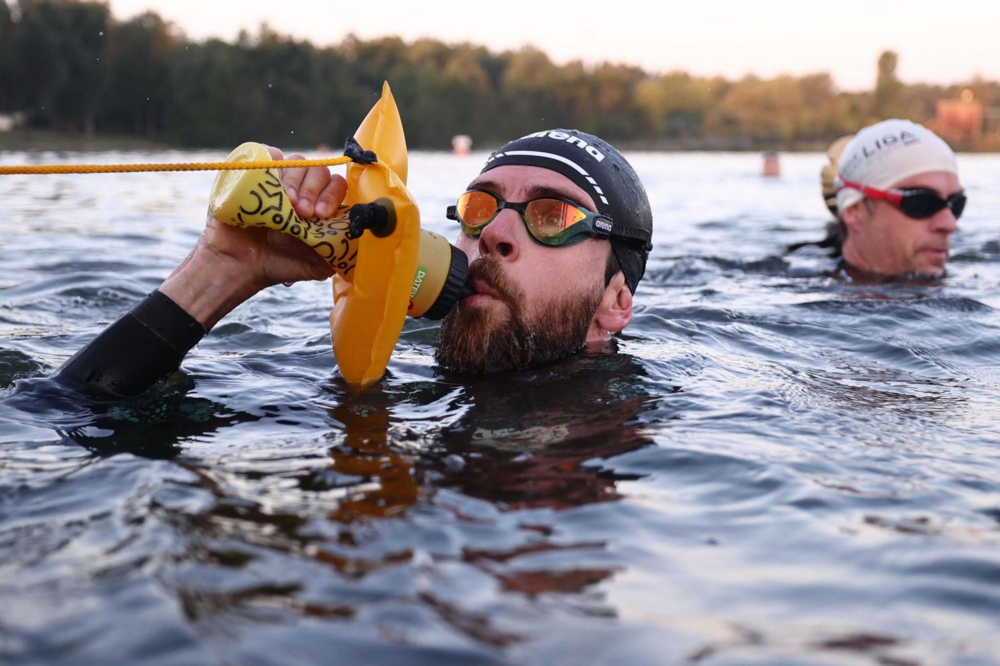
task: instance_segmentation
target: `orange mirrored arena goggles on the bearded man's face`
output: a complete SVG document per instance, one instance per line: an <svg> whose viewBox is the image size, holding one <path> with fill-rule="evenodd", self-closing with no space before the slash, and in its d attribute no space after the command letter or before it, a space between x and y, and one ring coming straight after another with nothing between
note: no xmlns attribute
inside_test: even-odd
<svg viewBox="0 0 1000 666"><path fill-rule="evenodd" d="M535 199L528 202L507 202L483 190L469 190L449 206L446 217L462 223L462 231L479 238L486 225L500 211L510 209L520 214L528 233L538 243L547 246L570 246L588 237L619 237L611 218L580 208L566 199Z"/></svg>

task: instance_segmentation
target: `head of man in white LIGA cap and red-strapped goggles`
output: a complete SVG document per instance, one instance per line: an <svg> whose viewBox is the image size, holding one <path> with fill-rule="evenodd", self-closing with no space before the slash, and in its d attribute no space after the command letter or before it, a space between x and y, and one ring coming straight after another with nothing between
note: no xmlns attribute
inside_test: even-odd
<svg viewBox="0 0 1000 666"><path fill-rule="evenodd" d="M907 120L866 127L844 148L835 191L848 275L944 276L966 197L955 154L937 135Z"/></svg>

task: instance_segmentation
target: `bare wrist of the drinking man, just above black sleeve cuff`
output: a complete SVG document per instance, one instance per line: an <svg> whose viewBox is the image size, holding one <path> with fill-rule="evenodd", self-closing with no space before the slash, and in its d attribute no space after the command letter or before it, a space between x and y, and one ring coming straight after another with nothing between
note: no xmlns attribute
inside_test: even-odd
<svg viewBox="0 0 1000 666"><path fill-rule="evenodd" d="M262 288L239 262L199 246L159 291L210 330Z"/></svg>

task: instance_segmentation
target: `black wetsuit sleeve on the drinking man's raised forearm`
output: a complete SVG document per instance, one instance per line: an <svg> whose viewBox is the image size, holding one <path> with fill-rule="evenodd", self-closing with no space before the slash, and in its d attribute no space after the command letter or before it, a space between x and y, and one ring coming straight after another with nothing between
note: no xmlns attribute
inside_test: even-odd
<svg viewBox="0 0 1000 666"><path fill-rule="evenodd" d="M208 331L183 308L153 292L56 371L56 378L132 396L180 367Z"/></svg>

